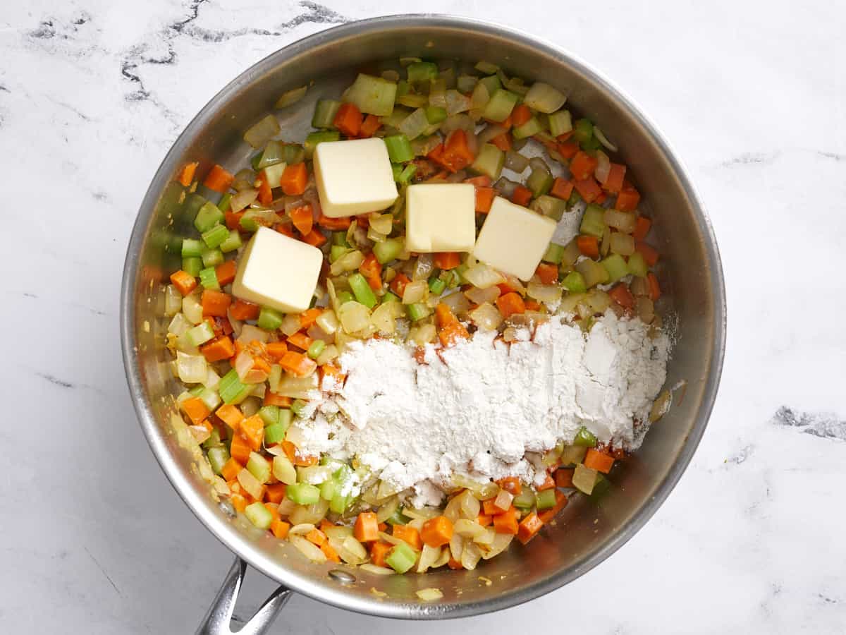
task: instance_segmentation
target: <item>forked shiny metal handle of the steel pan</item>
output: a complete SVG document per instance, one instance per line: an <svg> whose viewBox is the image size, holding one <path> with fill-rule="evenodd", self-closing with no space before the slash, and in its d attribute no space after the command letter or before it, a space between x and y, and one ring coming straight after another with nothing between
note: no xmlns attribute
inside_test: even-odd
<svg viewBox="0 0 846 635"><path fill-rule="evenodd" d="M196 635L233 635L231 630L232 613L235 602L238 599L238 592L241 583L244 582L244 574L247 571L247 563L236 557L235 562L223 581L217 597L211 603L206 616ZM277 613L288 602L291 597L291 589L280 586L274 591L261 608L255 611L250 621L238 631L238 635L262 635L270 628Z"/></svg>

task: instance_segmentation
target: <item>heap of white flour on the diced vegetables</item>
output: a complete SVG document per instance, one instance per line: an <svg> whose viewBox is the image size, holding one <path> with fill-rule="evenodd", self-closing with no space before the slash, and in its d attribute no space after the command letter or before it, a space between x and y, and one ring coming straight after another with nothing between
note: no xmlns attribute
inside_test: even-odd
<svg viewBox="0 0 846 635"><path fill-rule="evenodd" d="M582 425L603 442L640 445L633 419L647 420L670 350L667 334L651 339L649 329L609 311L585 335L556 317L510 345L478 331L450 349L427 346L424 364L391 340L354 342L339 358L346 383L311 401L289 439L358 456L396 489L413 488L413 505L437 504L453 473L541 482L533 453Z"/></svg>

